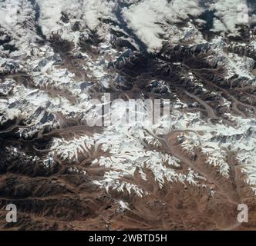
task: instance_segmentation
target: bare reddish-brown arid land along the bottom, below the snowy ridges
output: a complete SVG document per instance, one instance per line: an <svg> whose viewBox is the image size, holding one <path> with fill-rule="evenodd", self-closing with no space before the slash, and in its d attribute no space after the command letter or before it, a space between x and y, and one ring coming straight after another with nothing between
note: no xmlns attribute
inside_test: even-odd
<svg viewBox="0 0 256 246"><path fill-rule="evenodd" d="M175 146L175 137L169 143ZM174 139L173 139L174 138ZM170 146L168 146L168 149ZM255 228L255 200L248 198L250 191L243 187L241 173L234 173L230 182L217 178L217 171L204 168L204 156L190 161L176 145L173 155L181 156L186 173L191 166L207 177L206 188L184 188L184 184L165 183L162 188L150 171L145 171L147 181L138 172L124 180L140 185L150 193L143 198L100 189L93 179L103 175L105 168L88 167L88 175L72 174L69 166L62 164L45 173L40 165L29 165L22 157L6 156L1 163L1 229L2 230L253 230ZM167 150L168 151L168 150ZM232 163L231 163L232 165ZM72 168L81 168L72 165ZM146 168L145 168L146 170ZM237 176L236 176L237 175ZM239 181L241 180L241 181ZM210 189L216 189L214 198ZM132 204L123 211L118 201ZM193 199L191 199L193 198ZM248 224L237 222L237 204L249 205ZM5 222L7 204L16 204L18 222Z"/></svg>

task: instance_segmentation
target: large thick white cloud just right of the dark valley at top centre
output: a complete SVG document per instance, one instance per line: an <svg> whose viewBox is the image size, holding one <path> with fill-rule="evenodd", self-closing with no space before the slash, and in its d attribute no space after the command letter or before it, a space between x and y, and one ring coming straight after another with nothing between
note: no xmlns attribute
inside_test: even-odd
<svg viewBox="0 0 256 246"><path fill-rule="evenodd" d="M197 16L202 12L198 1L174 0L143 0L130 8L123 9L123 16L130 28L144 42L150 50L159 49L163 40L164 30L159 23L166 20L177 22L188 17L188 14Z"/></svg>

